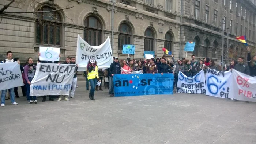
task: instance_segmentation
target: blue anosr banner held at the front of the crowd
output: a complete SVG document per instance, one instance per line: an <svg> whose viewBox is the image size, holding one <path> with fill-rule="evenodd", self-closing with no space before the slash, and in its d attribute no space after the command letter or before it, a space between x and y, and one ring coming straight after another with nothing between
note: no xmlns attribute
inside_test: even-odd
<svg viewBox="0 0 256 144"><path fill-rule="evenodd" d="M116 74L114 93L120 96L173 94L173 74Z"/></svg>

